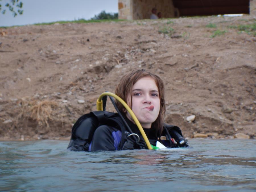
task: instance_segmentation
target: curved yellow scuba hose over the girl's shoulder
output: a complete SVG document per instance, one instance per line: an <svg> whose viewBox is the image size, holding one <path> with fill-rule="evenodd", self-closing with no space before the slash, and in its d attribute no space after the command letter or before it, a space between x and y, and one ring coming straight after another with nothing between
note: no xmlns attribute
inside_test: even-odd
<svg viewBox="0 0 256 192"><path fill-rule="evenodd" d="M141 132L141 135L143 137L143 139L145 140L146 142L146 145L148 147L148 149L151 149L152 150L152 146L151 144L149 143L148 141L148 138L143 130L143 128L141 127L141 123L139 122L139 120L137 119L137 117L135 116L135 114L133 113L133 111L131 110L131 108L125 103L124 100L122 100L119 96L117 96L116 94L113 94L111 92L104 92L102 93L98 100L97 100L97 103L96 103L96 108L97 108L97 111L103 111L103 103L102 103L102 97L105 96L105 95L109 95L109 96L112 96L113 98L117 99L124 107L125 109L130 113L131 117L133 118L133 121L136 123L136 125L138 126L140 132Z"/></svg>

